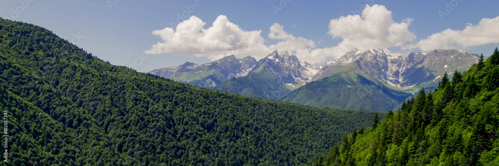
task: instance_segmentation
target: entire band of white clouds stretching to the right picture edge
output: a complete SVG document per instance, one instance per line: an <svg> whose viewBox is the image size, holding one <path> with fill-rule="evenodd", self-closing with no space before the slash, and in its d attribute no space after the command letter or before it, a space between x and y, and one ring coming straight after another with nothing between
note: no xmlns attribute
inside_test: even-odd
<svg viewBox="0 0 499 166"><path fill-rule="evenodd" d="M251 55L261 59L274 50L289 50L300 59L310 63L324 63L328 57L337 58L355 50L400 47L408 52L413 49L429 51L437 48L460 49L499 43L499 17L484 18L477 25L468 24L464 30L446 29L426 39L414 41L416 35L409 31L412 18L399 22L393 20L392 11L384 5L366 4L362 13L340 16L329 21L329 34L333 39L342 39L337 45L316 48L313 40L294 36L284 26L274 23L269 27L267 38L277 40L267 45L261 30L247 31L220 15L212 26L196 16L181 22L177 27L154 30L160 42L154 44L147 54L175 53L183 56L207 57L217 60L229 55L239 58ZM291 27L290 27L291 28ZM397 53L394 53L397 55Z"/></svg>

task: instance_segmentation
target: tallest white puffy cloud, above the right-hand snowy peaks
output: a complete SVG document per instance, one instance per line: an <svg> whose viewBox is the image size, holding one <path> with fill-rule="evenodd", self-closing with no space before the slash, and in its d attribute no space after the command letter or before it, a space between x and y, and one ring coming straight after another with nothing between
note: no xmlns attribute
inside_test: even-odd
<svg viewBox="0 0 499 166"><path fill-rule="evenodd" d="M416 35L409 31L411 21L411 18L406 18L397 23L392 18L392 12L384 5L366 4L362 15L332 19L329 22L329 35L343 40L337 46L313 50L311 55L317 58L321 54L339 57L357 49L403 46L416 38Z"/></svg>

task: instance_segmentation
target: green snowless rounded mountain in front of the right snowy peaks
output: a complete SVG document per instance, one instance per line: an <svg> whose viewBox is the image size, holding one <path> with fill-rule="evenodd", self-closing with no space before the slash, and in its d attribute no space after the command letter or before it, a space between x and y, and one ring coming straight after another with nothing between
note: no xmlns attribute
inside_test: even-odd
<svg viewBox="0 0 499 166"><path fill-rule="evenodd" d="M334 109L387 112L412 96L389 89L379 81L375 82L367 74L340 72L310 82L285 95L280 101Z"/></svg>

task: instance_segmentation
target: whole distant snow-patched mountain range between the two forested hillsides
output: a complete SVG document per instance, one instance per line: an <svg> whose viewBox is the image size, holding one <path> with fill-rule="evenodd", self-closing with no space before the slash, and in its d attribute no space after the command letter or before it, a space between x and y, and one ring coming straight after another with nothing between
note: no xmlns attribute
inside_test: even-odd
<svg viewBox="0 0 499 166"><path fill-rule="evenodd" d="M434 89L445 72L464 71L479 55L436 49L394 56L383 49L357 50L316 66L288 51L256 61L234 55L207 64L151 72L191 85L315 107L388 111L422 87ZM362 100L359 104L359 100Z"/></svg>

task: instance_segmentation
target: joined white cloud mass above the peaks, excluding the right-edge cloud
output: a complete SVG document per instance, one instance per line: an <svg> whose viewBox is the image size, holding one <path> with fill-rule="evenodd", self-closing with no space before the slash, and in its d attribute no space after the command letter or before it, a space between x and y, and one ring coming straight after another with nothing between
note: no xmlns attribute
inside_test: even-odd
<svg viewBox="0 0 499 166"><path fill-rule="evenodd" d="M278 42L265 45L261 30L246 31L230 22L225 15L218 16L208 28L200 18L191 16L175 29L154 30L153 34L160 36L162 41L145 53L176 53L216 60L232 54L237 57L251 55L259 59L273 50L289 50L308 62L323 63L327 57L339 57L357 49L403 46L416 38L408 30L411 21L411 18L406 18L395 22L392 12L385 6L366 4L362 15L341 16L329 22L328 34L332 38L342 38L339 44L315 48L315 41L289 34L279 23L269 27L267 36Z"/></svg>

